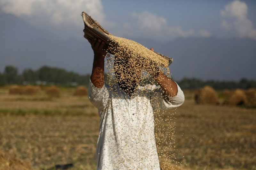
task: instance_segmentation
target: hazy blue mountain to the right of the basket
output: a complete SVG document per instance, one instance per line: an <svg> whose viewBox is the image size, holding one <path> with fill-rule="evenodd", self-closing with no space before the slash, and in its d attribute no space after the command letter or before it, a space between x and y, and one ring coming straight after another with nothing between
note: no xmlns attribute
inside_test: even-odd
<svg viewBox="0 0 256 170"><path fill-rule="evenodd" d="M183 77L239 80L256 79L256 41L252 39L178 38L165 43L134 39L147 48L172 57L175 79ZM145 43L144 43L145 42Z"/></svg>

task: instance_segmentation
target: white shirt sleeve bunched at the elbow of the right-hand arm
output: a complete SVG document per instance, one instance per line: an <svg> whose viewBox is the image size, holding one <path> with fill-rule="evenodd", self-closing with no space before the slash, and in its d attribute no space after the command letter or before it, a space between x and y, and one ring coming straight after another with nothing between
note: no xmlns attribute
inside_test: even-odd
<svg viewBox="0 0 256 170"><path fill-rule="evenodd" d="M176 83L177 84L177 83ZM169 97L164 94L162 88L157 86L151 93L150 101L154 109L170 109L173 107L179 107L184 103L185 97L184 93L177 84L178 92L174 97Z"/></svg>

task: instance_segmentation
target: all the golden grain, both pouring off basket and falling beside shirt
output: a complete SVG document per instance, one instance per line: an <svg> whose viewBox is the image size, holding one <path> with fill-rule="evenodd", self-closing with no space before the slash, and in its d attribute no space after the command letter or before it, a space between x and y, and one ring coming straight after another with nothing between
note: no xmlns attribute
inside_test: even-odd
<svg viewBox="0 0 256 170"><path fill-rule="evenodd" d="M157 84L151 74L154 74L158 69L171 78L168 67L157 67L156 60L163 60L163 58L159 58L159 55L155 55L153 51L150 51L134 41L119 37L114 38L115 41L118 42L118 45L111 46L110 51L115 55L108 53L106 57L106 66L108 68L107 82L110 89L114 92L113 95L118 93L115 89L116 83L119 83L120 87L131 97L137 94L136 92L140 86L140 95L143 95L143 91L145 93L148 91L148 84ZM152 58L156 60L152 60ZM158 93L152 93L152 98L154 98L154 96L158 96ZM126 112L127 111L124 110L123 114L125 115ZM177 166L170 165L179 166L180 163L175 160L176 155L173 152L176 146L174 141L174 127L171 123L174 119L174 113L170 110L155 110L155 115L157 152L159 159L165 160L162 161L161 168L175 169ZM164 121L169 123L163 126ZM141 141L141 143L143 143L143 141ZM150 154L149 152L150 151L148 151L148 154ZM143 156L147 157L147 155Z"/></svg>

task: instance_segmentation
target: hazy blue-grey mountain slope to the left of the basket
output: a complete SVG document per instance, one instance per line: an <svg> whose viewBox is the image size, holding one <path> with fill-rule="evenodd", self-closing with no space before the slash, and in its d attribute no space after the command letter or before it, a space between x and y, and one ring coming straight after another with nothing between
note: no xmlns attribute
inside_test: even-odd
<svg viewBox="0 0 256 170"><path fill-rule="evenodd" d="M93 51L87 40L64 40L11 14L1 13L0 23L1 72L6 65L16 66L20 71L43 65L83 74L91 71Z"/></svg>

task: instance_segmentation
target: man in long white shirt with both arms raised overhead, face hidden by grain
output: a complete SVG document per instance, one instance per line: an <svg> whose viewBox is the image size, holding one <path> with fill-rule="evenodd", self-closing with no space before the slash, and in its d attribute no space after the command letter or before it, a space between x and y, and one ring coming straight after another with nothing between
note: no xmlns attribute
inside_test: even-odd
<svg viewBox="0 0 256 170"><path fill-rule="evenodd" d="M159 170L153 113L156 109L180 106L184 102L183 92L157 67L147 71L160 86L141 87L134 82L133 87L127 90L118 75L118 84L113 87L106 85L104 58L107 52L103 49L104 42L97 38L88 41L94 52L88 97L100 115L97 169ZM115 64L121 63L115 61L114 69ZM115 70L116 74L118 72L120 70ZM136 77L140 71L132 74Z"/></svg>

